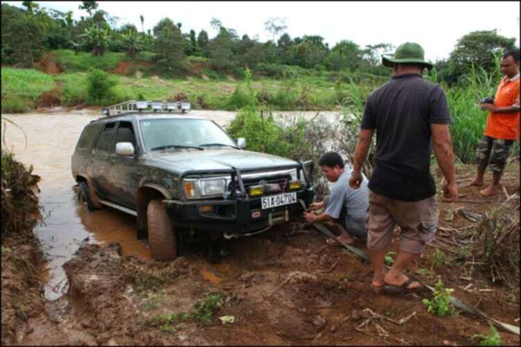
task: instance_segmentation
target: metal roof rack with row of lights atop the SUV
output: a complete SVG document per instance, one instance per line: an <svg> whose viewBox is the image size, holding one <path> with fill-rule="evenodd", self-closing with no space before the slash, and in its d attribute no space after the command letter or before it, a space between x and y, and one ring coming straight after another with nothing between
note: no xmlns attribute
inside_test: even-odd
<svg viewBox="0 0 521 347"><path fill-rule="evenodd" d="M187 113L190 111L190 103L187 101L137 101L130 100L116 103L101 109L101 115L105 117L119 115L120 113L141 112L169 112Z"/></svg>

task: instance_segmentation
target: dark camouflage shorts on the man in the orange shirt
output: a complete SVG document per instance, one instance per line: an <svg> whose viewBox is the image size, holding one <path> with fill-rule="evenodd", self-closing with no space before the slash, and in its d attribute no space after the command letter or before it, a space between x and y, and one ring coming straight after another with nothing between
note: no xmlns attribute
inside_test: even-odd
<svg viewBox="0 0 521 347"><path fill-rule="evenodd" d="M490 170L502 172L513 142L513 139L495 139L494 137L483 135L476 149L476 164L480 167L488 165Z"/></svg>

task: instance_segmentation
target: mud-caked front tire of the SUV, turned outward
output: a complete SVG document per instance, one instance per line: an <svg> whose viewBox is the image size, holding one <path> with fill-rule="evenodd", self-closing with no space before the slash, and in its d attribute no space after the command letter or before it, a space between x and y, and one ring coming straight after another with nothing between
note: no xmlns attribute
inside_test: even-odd
<svg viewBox="0 0 521 347"><path fill-rule="evenodd" d="M177 257L177 239L167 209L160 200L147 206L147 226L150 254L154 260L174 260Z"/></svg>

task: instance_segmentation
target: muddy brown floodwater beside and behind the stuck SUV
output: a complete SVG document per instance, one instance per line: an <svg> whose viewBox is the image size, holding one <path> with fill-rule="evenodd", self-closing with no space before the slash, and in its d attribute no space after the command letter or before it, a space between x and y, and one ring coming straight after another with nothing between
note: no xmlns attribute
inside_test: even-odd
<svg viewBox="0 0 521 347"><path fill-rule="evenodd" d="M236 112L192 110L190 114L226 126ZM311 119L316 115L315 111L275 112L276 117L283 119ZM342 117L335 111L320 112L320 115L331 121ZM35 228L35 232L48 260L45 288L48 300L56 300L65 294L68 284L63 264L71 259L86 238L101 244L119 242L123 255L150 257L147 244L136 239L135 217L110 208L90 213L76 200L72 189L75 182L70 168L71 155L83 127L99 117L98 110L66 111L60 108L23 115L1 115L2 119L9 119L17 125L2 122L4 148L12 150L26 166L33 165L33 173L42 178L39 186L44 222ZM210 282L220 281L208 271L203 271L201 276Z"/></svg>

